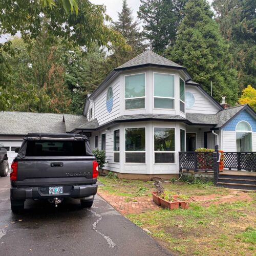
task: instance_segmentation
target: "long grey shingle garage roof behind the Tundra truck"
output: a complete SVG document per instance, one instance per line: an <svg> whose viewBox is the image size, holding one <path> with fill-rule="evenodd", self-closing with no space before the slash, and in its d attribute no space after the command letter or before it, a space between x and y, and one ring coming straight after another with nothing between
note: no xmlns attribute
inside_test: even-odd
<svg viewBox="0 0 256 256"><path fill-rule="evenodd" d="M66 133L63 114L0 112L0 135Z"/></svg>

